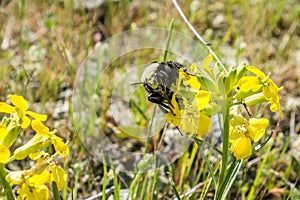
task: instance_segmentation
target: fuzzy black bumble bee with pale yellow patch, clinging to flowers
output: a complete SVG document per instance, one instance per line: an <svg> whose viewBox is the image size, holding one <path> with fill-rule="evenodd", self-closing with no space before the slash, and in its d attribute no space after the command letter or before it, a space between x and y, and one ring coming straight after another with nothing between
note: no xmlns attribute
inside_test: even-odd
<svg viewBox="0 0 300 200"><path fill-rule="evenodd" d="M180 69L187 72L186 68L177 62L153 62L142 74L142 84L149 93L148 100L158 104L164 113L173 112L174 105L171 100L176 93ZM175 99L179 102L178 97Z"/></svg>

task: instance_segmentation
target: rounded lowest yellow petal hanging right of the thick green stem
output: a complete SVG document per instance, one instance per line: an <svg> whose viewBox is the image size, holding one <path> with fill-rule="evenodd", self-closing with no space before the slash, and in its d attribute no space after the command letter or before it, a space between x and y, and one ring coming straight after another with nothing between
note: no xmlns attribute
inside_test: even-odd
<svg viewBox="0 0 300 200"><path fill-rule="evenodd" d="M233 152L237 159L247 158L252 153L251 141L247 137L241 137L232 143L229 150Z"/></svg>

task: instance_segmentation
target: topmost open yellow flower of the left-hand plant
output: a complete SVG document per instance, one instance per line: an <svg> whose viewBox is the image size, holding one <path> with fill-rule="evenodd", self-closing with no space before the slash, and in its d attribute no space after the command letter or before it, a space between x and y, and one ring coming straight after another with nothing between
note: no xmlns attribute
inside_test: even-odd
<svg viewBox="0 0 300 200"><path fill-rule="evenodd" d="M22 96L18 95L10 95L9 96L11 103L14 106L8 105L5 102L0 102L0 112L14 114L16 113L18 125L22 128L27 128L30 124L30 118L39 119L41 121L45 121L47 119L47 115L41 115L28 109L28 103Z"/></svg>

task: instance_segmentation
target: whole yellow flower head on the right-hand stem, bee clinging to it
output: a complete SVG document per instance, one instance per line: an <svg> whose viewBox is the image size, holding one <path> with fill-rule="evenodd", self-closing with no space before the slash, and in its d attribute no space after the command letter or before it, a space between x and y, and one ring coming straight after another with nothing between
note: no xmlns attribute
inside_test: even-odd
<svg viewBox="0 0 300 200"><path fill-rule="evenodd" d="M283 88L254 66L240 64L220 73L209 67L212 61L209 55L201 67L193 64L192 74L180 70L171 100L174 106L165 118L182 132L201 137L210 130L210 116L222 112L230 118L229 150L237 159L247 158L252 154L252 142L258 142L269 126L268 119L253 117L249 107L266 102L271 112L283 117L279 96ZM241 112L241 106L247 112Z"/></svg>

